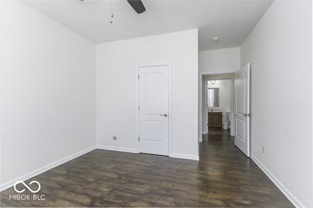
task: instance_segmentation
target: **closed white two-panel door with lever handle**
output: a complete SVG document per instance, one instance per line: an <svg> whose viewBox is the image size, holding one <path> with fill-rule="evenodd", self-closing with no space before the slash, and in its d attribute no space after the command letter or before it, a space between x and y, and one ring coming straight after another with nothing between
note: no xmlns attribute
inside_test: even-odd
<svg viewBox="0 0 313 208"><path fill-rule="evenodd" d="M169 155L168 65L139 67L139 152Z"/></svg>

